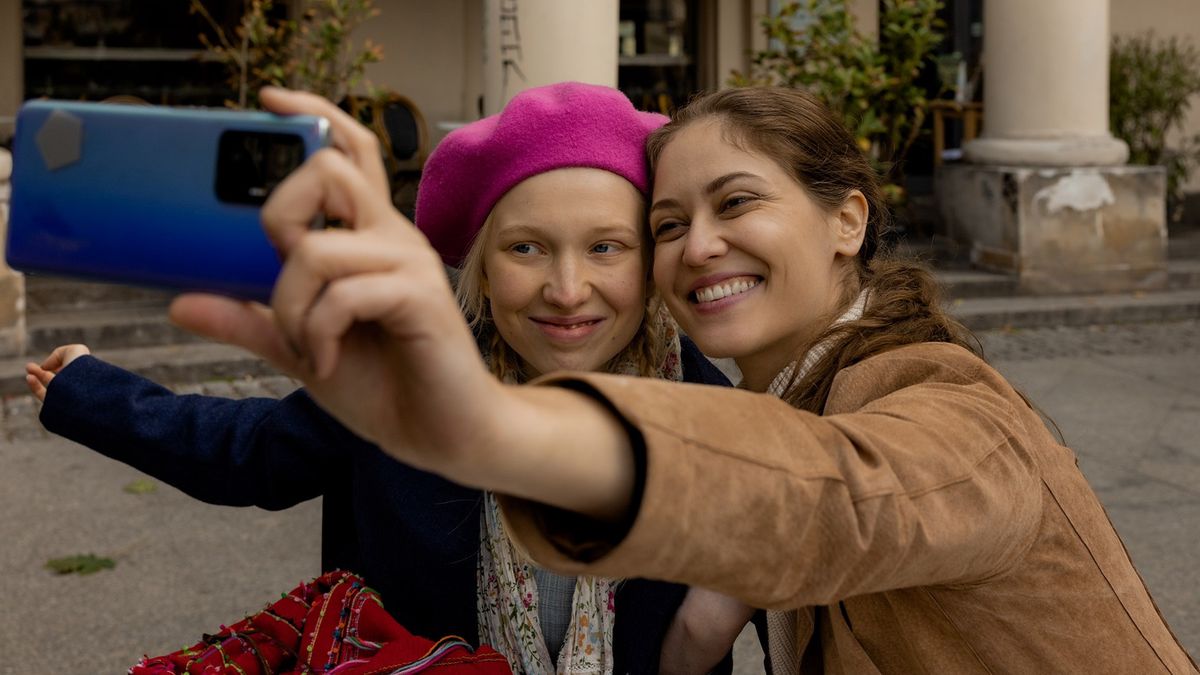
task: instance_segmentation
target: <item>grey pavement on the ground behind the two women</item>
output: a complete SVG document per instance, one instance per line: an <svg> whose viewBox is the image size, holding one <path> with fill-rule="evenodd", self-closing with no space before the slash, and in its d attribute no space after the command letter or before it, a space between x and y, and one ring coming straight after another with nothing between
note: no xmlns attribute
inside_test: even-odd
<svg viewBox="0 0 1200 675"><path fill-rule="evenodd" d="M982 334L994 363L1062 430L1168 622L1200 655L1200 321ZM282 377L180 388L281 395ZM5 404L0 440L0 674L121 673L198 640L318 572L319 504L271 513L202 504L50 437L36 404ZM116 567L58 577L47 560ZM386 598L385 598L386 599ZM749 635L748 635L749 637ZM745 645L743 645L745 646ZM739 650L739 675L762 673Z"/></svg>

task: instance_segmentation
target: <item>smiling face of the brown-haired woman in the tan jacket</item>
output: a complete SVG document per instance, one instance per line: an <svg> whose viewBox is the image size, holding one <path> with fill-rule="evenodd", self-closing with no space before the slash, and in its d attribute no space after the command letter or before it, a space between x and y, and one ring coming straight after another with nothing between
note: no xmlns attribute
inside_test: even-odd
<svg viewBox="0 0 1200 675"><path fill-rule="evenodd" d="M862 195L829 213L720 123L694 123L659 156L655 286L706 354L732 357L762 390L830 321L865 220Z"/></svg>

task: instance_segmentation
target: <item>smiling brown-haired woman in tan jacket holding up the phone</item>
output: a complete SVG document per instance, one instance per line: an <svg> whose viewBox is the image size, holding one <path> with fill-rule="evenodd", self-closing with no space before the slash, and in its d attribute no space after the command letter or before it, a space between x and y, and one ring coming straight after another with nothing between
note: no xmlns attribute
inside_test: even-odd
<svg viewBox="0 0 1200 675"><path fill-rule="evenodd" d="M659 292L758 393L488 378L437 257L366 186L374 148L334 127L341 154L264 211L287 257L271 310L190 297L175 317L402 461L509 495L540 563L768 608L775 673L1196 671L1074 453L928 273L876 259L875 175L810 96L719 92L650 142ZM318 211L355 231L317 246Z"/></svg>

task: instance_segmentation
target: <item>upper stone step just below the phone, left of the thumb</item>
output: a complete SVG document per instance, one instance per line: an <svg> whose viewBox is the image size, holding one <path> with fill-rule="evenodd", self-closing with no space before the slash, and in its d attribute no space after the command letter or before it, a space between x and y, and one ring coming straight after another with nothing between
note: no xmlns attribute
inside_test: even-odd
<svg viewBox="0 0 1200 675"><path fill-rule="evenodd" d="M43 354L71 342L94 350L176 345L199 340L167 321L166 306L124 306L55 311L25 319L28 354Z"/></svg>

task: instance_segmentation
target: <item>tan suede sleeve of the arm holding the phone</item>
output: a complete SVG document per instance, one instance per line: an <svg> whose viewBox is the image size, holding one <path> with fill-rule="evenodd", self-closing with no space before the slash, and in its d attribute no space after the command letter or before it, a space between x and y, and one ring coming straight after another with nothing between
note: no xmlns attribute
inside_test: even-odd
<svg viewBox="0 0 1200 675"><path fill-rule="evenodd" d="M606 401L646 453L632 525L608 545L578 519L502 501L521 544L564 573L666 579L787 609L977 584L1015 565L1037 533L1031 448L1045 429L958 347L896 350L842 371L824 416L716 387L548 383Z"/></svg>

